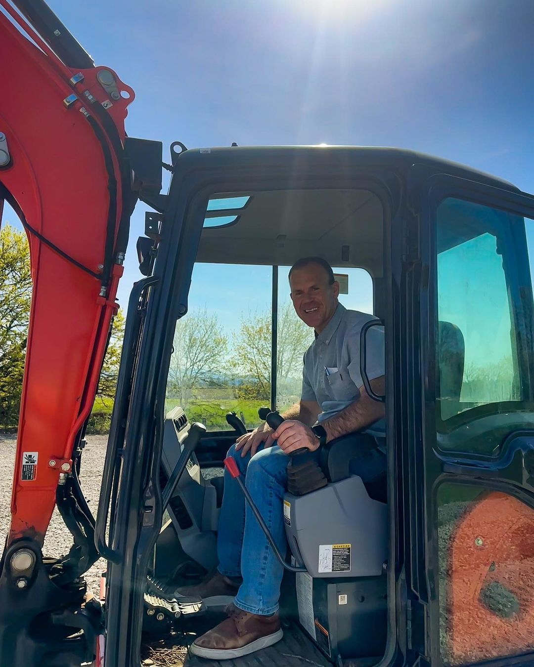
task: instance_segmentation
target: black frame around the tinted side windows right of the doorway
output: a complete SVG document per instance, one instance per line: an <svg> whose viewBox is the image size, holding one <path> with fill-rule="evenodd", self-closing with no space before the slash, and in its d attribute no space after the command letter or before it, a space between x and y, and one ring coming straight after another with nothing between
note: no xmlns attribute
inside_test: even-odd
<svg viewBox="0 0 534 667"><path fill-rule="evenodd" d="M437 532L437 487L455 480L465 484L482 484L519 497L534 507L533 488L513 481L507 457L511 456L509 443L503 443L497 458L472 456L469 452L439 450L436 429L436 331L437 331L437 207L447 197L464 199L472 203L500 209L507 213L534 220L534 197L510 186L503 189L502 183L492 182L481 175L480 181L444 173L429 173L416 165L409 190L414 217L411 221L412 237L415 238L415 263L419 277L412 285L412 303L419 303L413 317L413 340L419 346L413 350L415 374L414 392L411 397L411 412L419 414L420 430L411 445L408 458L410 492L409 512L412 515L411 536L413 538L412 571L409 590L415 597L417 616L414 616L411 634L413 646L432 665L442 665L440 650L439 607L439 552ZM470 177L476 177L471 174ZM496 187L499 185L499 187ZM533 222L534 224L534 222ZM511 233L512 237L514 232ZM528 362L523 374L529 378L529 400L532 400L534 361L532 356L532 304L521 298L521 285L530 285L530 271L525 238L512 239L516 251L523 253L523 262L515 267L513 281L516 283L511 295L517 316L523 319L519 332L521 346ZM526 262L524 261L526 257ZM531 301L531 299L530 299ZM421 418L422 416L422 418ZM417 421L417 417L415 418ZM533 440L534 446L534 440ZM512 448L513 449L513 448ZM513 452L512 452L513 453ZM508 472L507 472L508 471ZM499 657L486 660L484 664L511 664L530 662L533 653L524 656Z"/></svg>

